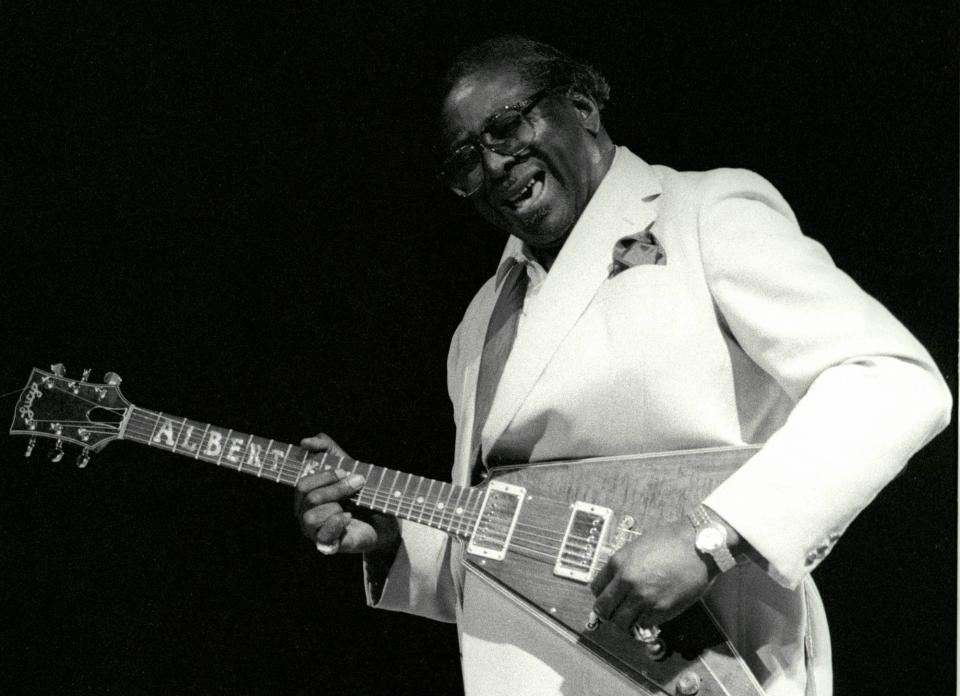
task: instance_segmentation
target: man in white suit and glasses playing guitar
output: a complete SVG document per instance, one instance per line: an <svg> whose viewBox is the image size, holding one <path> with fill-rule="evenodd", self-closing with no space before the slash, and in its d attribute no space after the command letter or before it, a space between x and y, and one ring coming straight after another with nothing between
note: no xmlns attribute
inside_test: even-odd
<svg viewBox="0 0 960 696"><path fill-rule="evenodd" d="M478 459L763 444L689 519L620 549L593 580L594 611L629 630L703 598L767 693L829 694L809 573L946 426L930 356L764 179L615 146L600 117L609 87L589 66L495 39L458 58L445 94L444 180L511 235L451 344L454 482ZM490 387L491 316L509 293L522 310ZM304 445L338 451L323 434ZM304 533L326 553L365 553L372 605L457 621L468 694L635 692L465 577L443 535L344 511L362 485L302 479Z"/></svg>

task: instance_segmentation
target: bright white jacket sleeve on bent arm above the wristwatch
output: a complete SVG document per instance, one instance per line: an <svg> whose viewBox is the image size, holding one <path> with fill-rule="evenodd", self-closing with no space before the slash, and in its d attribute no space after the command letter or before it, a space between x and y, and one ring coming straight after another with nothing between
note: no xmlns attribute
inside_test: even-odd
<svg viewBox="0 0 960 696"><path fill-rule="evenodd" d="M797 586L950 419L932 358L805 237L764 179L719 170L700 214L705 275L740 347L796 402L704 503Z"/></svg>

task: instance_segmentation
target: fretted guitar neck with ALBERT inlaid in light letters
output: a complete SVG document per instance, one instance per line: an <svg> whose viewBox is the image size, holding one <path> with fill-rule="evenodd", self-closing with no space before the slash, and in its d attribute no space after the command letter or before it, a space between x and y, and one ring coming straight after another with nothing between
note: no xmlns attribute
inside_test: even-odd
<svg viewBox="0 0 960 696"><path fill-rule="evenodd" d="M342 470L360 474L364 487L351 500L360 507L425 524L469 539L483 504L482 490L455 486L422 476L296 445L267 440L131 405L120 439L139 442L192 459L224 466L288 486L304 476Z"/></svg>

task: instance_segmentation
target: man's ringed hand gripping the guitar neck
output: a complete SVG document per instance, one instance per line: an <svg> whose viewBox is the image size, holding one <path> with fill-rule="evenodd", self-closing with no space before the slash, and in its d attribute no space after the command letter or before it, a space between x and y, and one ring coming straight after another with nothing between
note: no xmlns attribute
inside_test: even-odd
<svg viewBox="0 0 960 696"><path fill-rule="evenodd" d="M312 452L349 455L325 433L305 438L300 446ZM400 525L392 515L354 509L347 500L363 488L363 477L346 471L325 471L297 481L294 514L303 535L331 553L393 553ZM344 510L344 506L352 511Z"/></svg>

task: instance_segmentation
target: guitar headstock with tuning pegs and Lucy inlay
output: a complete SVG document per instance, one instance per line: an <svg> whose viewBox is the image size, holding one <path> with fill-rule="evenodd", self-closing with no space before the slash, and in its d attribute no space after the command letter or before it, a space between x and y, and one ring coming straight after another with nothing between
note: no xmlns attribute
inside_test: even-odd
<svg viewBox="0 0 960 696"><path fill-rule="evenodd" d="M104 375L102 384L88 381L90 370L79 379L69 379L62 364L50 366L50 372L34 368L27 386L20 393L13 414L11 435L30 438L26 456L33 452L38 437L56 440L50 458L63 458L63 443L83 448L77 466L90 461L90 453L106 447L120 436L120 427L130 402L120 393L120 376Z"/></svg>

